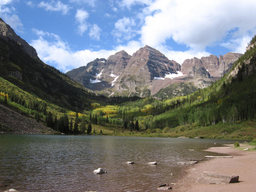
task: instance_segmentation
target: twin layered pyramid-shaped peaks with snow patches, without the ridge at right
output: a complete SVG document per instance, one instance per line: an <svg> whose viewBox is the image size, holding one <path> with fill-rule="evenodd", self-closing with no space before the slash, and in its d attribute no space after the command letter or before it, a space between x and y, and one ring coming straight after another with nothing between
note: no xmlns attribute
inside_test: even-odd
<svg viewBox="0 0 256 192"><path fill-rule="evenodd" d="M122 50L108 59L95 59L86 67L73 69L67 75L97 93L149 96L154 81L170 74L182 75L177 72L180 70L179 63L146 45L132 56Z"/></svg>

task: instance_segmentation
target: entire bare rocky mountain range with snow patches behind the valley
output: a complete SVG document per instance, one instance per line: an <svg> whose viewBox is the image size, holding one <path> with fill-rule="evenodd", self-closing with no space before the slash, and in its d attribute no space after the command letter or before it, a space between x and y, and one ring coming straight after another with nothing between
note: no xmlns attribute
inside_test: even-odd
<svg viewBox="0 0 256 192"><path fill-rule="evenodd" d="M230 52L219 57L194 57L180 65L146 45L132 56L122 50L66 74L97 94L145 97L174 83L207 87L227 73L241 55Z"/></svg>

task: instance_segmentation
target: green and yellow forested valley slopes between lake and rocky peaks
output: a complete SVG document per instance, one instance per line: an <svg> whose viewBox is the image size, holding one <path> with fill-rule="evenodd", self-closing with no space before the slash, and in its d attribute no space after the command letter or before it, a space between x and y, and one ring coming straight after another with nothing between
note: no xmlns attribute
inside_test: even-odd
<svg viewBox="0 0 256 192"><path fill-rule="evenodd" d="M197 90L191 84L175 84L156 95L161 100L95 95L54 67L31 58L11 40L0 39L0 53L0 102L56 131L256 138L255 46L211 86ZM175 91L184 96L175 97Z"/></svg>

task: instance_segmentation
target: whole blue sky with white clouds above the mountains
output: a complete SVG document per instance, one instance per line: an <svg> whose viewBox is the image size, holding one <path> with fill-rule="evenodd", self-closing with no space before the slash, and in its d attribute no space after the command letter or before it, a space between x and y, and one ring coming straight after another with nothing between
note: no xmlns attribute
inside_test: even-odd
<svg viewBox="0 0 256 192"><path fill-rule="evenodd" d="M0 17L63 72L149 45L170 60L244 53L256 1L0 0Z"/></svg>

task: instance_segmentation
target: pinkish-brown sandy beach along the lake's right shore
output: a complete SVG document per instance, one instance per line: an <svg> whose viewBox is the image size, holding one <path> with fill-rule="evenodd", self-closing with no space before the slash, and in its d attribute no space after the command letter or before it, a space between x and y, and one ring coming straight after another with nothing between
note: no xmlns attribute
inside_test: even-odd
<svg viewBox="0 0 256 192"><path fill-rule="evenodd" d="M206 151L223 153L233 156L233 158L205 158L198 164L186 166L177 179L176 185L172 185L173 192L241 192L256 191L256 150L252 145L240 144L240 147L226 145L224 147L211 147ZM249 148L247 151L242 149ZM212 171L223 175L239 175L238 183L222 184L198 184L195 180L203 171ZM162 191L162 190L156 190Z"/></svg>

